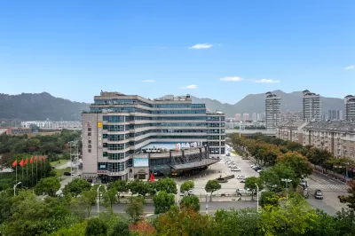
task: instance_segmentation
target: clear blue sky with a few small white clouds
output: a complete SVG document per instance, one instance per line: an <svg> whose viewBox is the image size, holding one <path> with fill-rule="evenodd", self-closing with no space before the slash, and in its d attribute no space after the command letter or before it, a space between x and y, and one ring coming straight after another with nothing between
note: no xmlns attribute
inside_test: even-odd
<svg viewBox="0 0 355 236"><path fill-rule="evenodd" d="M0 2L2 93L342 98L354 93L353 65L353 0Z"/></svg>

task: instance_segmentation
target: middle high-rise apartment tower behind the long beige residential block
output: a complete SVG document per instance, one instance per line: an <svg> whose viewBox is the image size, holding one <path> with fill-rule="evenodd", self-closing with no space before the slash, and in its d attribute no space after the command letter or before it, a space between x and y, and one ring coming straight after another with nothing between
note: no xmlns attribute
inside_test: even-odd
<svg viewBox="0 0 355 236"><path fill-rule="evenodd" d="M320 121L321 104L319 94L304 90L304 121Z"/></svg>

